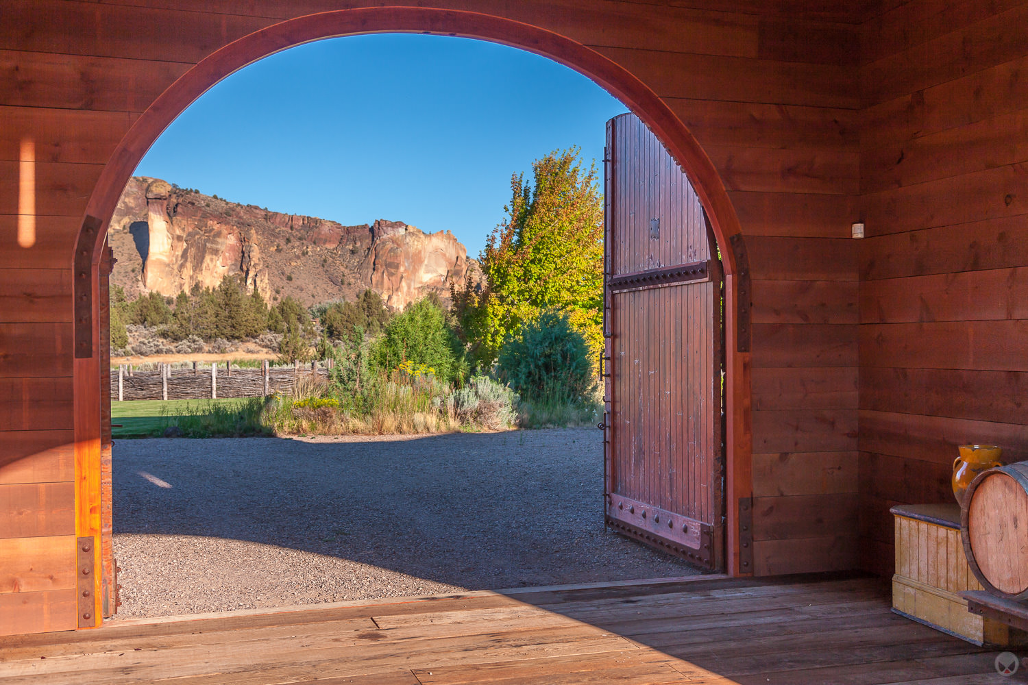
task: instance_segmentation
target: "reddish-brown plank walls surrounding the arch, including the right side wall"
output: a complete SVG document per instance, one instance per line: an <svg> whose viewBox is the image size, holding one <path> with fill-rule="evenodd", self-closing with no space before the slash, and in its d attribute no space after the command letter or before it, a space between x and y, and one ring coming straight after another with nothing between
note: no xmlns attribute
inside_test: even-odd
<svg viewBox="0 0 1028 685"><path fill-rule="evenodd" d="M1020 311L1022 282L1009 267L1020 264L1017 254L1028 240L1016 230L1028 200L1028 175L1015 164L1024 159L1024 142L1009 136L1024 132L1012 106L1025 100L1020 63L1012 62L1023 47L1012 33L1024 26L1015 16L1021 10L997 18L980 16L969 1L918 0L896 9L881 2L432 3L494 12L593 46L661 96L721 172L754 278L761 574L871 565L869 554L888 554L883 507L920 498L912 488L924 489L923 469L931 482L949 463L941 434L1001 442L1022 430L1021 377L1008 373L1025 357L1017 353L1022 325L1008 320ZM101 169L136 117L198 60L283 18L339 5L133 4L3 6L0 613L13 620L0 623L0 633L75 622L71 256ZM940 4L944 11L929 11ZM861 59L861 46L877 56ZM997 103L976 96L977 87L1003 94ZM948 104L957 97L964 105ZM39 215L30 249L15 242L19 146L27 135L36 143ZM953 196L965 201L954 205ZM861 214L874 237L858 243L849 226ZM980 270L938 275L966 269ZM1011 296L986 308L961 299L961 282L986 290L999 283ZM917 299L922 287L926 303ZM925 312L932 322L919 321ZM984 322L964 320L972 317L1004 319L1017 345L990 339ZM919 368L945 364L956 370ZM923 389L916 396L880 392L875 374L893 387L915 379ZM978 392L975 380L992 381L1000 392ZM959 399L947 394L951 388ZM933 416L958 418L940 424ZM1005 432L987 420L1004 421ZM898 479L871 478L879 463L907 470L895 471ZM868 515L858 517L859 508ZM880 543L859 562L858 529L862 541Z"/></svg>

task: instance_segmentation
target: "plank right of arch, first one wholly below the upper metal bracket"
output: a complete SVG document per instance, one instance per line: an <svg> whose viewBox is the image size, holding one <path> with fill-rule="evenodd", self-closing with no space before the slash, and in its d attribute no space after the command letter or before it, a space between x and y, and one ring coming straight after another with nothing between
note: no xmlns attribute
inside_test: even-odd
<svg viewBox="0 0 1028 685"><path fill-rule="evenodd" d="M856 367L755 368L752 407L769 409L856 409Z"/></svg>

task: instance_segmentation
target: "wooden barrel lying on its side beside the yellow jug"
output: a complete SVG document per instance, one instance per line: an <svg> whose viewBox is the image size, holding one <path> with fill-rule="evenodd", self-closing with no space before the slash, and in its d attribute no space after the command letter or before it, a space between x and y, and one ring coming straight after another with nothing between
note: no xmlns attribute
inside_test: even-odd
<svg viewBox="0 0 1028 685"><path fill-rule="evenodd" d="M1028 461L982 471L960 511L971 572L993 595L1028 599Z"/></svg>

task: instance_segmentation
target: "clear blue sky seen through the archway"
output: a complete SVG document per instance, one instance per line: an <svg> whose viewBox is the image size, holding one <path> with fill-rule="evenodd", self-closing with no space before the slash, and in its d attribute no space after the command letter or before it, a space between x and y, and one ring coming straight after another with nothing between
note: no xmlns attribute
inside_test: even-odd
<svg viewBox="0 0 1028 685"><path fill-rule="evenodd" d="M229 76L160 136L136 174L343 224L449 229L477 256L510 178L556 148L600 166L627 111L585 76L476 40L353 36Z"/></svg>

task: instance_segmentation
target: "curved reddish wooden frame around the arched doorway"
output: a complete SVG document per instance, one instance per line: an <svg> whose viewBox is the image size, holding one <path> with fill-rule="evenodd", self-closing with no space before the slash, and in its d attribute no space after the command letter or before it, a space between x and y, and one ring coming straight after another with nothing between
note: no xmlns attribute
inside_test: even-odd
<svg viewBox="0 0 1028 685"><path fill-rule="evenodd" d="M199 96L230 74L296 45L352 35L420 33L475 38L540 54L578 71L625 104L661 140L690 176L706 210L725 268L726 331L726 557L731 575L747 575L752 563L739 540L740 498L751 494L749 421L748 265L738 217L713 163L671 109L642 81L576 40L514 20L478 12L429 7L370 7L308 14L273 24L212 52L178 78L135 121L104 167L86 204L76 254L93 237L93 282L97 282L107 226L132 173L164 128ZM98 221L99 220L99 221ZM91 230L89 230L91 229ZM95 233L89 236L85 231ZM94 290L96 293L96 290ZM94 333L99 317L93 302ZM99 534L100 395L99 354L76 358L75 463L78 535ZM748 556L751 559L751 548ZM741 559L740 559L741 557Z"/></svg>

